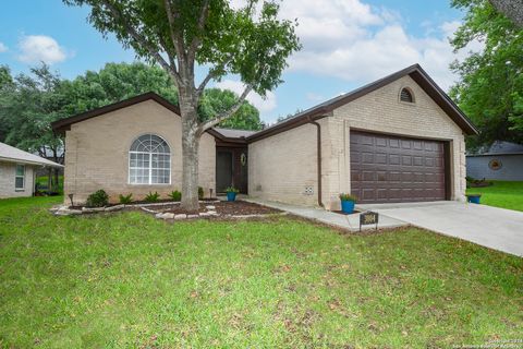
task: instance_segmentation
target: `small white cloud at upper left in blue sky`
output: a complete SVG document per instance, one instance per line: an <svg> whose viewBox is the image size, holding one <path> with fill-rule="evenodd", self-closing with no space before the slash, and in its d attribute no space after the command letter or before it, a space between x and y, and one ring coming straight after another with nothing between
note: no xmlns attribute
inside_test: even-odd
<svg viewBox="0 0 523 349"><path fill-rule="evenodd" d="M48 64L62 62L68 58L65 49L50 36L27 35L19 41L19 60L25 63L46 62Z"/></svg>

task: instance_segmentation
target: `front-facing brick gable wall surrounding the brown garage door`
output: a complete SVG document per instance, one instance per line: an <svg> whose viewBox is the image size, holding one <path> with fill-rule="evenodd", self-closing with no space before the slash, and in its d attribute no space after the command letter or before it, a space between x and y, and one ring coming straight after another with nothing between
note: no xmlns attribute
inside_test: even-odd
<svg viewBox="0 0 523 349"><path fill-rule="evenodd" d="M399 100L402 87L410 87L415 103ZM351 129L427 137L451 142L451 200L463 201L465 194L465 143L463 131L412 80L403 76L333 111L328 120L328 144L324 148L323 201L338 209L338 194L350 192Z"/></svg>

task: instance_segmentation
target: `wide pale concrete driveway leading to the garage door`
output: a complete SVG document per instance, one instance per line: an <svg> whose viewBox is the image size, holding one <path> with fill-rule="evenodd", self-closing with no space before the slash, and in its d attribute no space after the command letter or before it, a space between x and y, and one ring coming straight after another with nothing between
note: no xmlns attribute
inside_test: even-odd
<svg viewBox="0 0 523 349"><path fill-rule="evenodd" d="M523 256L523 212L458 202L360 205L413 226Z"/></svg>

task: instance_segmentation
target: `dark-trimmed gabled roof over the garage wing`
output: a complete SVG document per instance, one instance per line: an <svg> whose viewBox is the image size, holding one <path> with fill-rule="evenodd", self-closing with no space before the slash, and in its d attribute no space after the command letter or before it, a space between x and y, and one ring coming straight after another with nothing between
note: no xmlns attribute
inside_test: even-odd
<svg viewBox="0 0 523 349"><path fill-rule="evenodd" d="M478 133L472 121L469 120L463 111L460 110L452 99L423 70L423 68L419 64L413 64L393 74L379 79L370 84L356 88L348 94L324 101L315 107L295 115L285 121L259 131L248 136L247 142L264 139L285 130L296 128L309 122L311 120L324 118L331 113L335 109L406 75L411 76L423 88L423 91L425 91L425 93L429 95L434 101L436 101L436 104L463 130L463 132L465 132L465 134L472 135Z"/></svg>

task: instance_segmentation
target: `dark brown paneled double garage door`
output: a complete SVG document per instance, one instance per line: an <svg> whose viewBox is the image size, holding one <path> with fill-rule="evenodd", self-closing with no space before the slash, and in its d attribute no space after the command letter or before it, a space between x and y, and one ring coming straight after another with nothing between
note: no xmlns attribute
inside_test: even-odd
<svg viewBox="0 0 523 349"><path fill-rule="evenodd" d="M443 143L352 131L351 191L360 203L445 200Z"/></svg>

